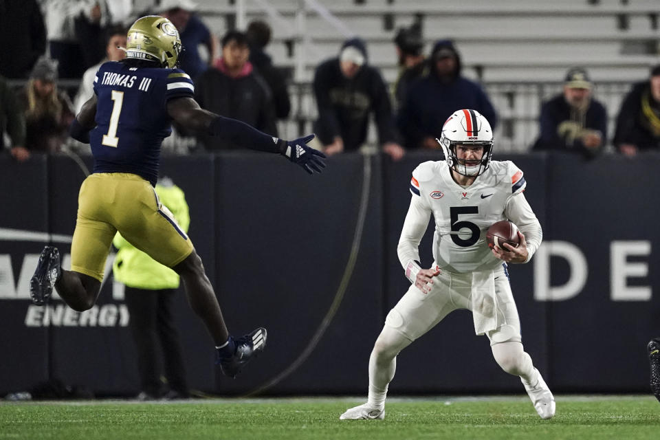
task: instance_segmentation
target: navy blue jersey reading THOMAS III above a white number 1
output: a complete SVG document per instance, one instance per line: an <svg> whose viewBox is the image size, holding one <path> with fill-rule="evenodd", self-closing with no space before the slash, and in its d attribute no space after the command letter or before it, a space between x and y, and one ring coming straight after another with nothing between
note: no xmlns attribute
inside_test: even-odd
<svg viewBox="0 0 660 440"><path fill-rule="evenodd" d="M160 146L172 132L167 101L194 97L181 69L109 61L94 78L96 128L89 133L94 173L133 173L156 184Z"/></svg>

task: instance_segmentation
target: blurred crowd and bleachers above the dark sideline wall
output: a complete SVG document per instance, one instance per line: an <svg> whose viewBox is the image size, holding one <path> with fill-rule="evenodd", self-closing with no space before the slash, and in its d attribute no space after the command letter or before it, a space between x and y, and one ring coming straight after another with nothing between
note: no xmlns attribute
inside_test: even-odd
<svg viewBox="0 0 660 440"><path fill-rule="evenodd" d="M654 0L0 0L0 130L17 161L87 149L67 126L126 30L179 29L202 107L329 155L436 148L460 108L495 127L498 152L592 158L660 145ZM239 146L177 130L166 153Z"/></svg>

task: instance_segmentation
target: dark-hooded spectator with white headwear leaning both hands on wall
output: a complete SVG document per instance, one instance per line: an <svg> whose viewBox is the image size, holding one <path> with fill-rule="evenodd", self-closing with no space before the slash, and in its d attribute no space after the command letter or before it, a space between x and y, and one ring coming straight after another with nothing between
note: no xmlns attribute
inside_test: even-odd
<svg viewBox="0 0 660 440"><path fill-rule="evenodd" d="M345 41L338 58L316 68L314 94L318 105L315 131L325 154L360 148L373 113L382 150L395 160L403 157L387 87L378 69L367 63L364 41Z"/></svg>

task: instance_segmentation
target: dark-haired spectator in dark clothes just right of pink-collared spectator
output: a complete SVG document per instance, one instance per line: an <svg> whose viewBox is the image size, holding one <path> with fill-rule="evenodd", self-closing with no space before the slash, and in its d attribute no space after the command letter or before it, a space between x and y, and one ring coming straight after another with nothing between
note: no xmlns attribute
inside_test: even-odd
<svg viewBox="0 0 660 440"><path fill-rule="evenodd" d="M265 21L252 21L245 34L250 44L250 63L270 87L276 117L285 119L291 111L287 81L281 71L273 65L270 55L264 52L265 47L270 43L272 34L270 25Z"/></svg>

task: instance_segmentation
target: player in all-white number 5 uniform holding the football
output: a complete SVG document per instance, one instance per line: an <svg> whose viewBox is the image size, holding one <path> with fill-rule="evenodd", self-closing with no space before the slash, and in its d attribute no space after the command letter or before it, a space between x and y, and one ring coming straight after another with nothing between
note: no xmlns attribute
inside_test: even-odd
<svg viewBox="0 0 660 440"><path fill-rule="evenodd" d="M555 400L522 349L520 319L509 285L507 263L527 263L542 231L522 191L525 177L513 162L491 161L493 133L480 113L456 111L445 122L443 162L424 162L412 172L412 200L399 239L399 261L412 285L388 314L369 359L369 399L340 419L383 419L396 357L451 311L468 309L474 331L486 335L496 362L520 377L542 419L555 414ZM419 241L431 214L435 219L434 263L423 269ZM520 245L490 250L485 233L509 219Z"/></svg>

